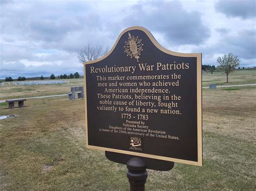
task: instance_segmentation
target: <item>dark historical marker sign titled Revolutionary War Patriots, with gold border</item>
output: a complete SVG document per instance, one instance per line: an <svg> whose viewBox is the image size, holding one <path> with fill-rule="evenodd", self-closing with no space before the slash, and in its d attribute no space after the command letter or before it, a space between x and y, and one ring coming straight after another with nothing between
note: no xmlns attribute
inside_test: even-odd
<svg viewBox="0 0 256 191"><path fill-rule="evenodd" d="M169 51L136 26L84 69L87 147L203 164L201 53Z"/></svg>

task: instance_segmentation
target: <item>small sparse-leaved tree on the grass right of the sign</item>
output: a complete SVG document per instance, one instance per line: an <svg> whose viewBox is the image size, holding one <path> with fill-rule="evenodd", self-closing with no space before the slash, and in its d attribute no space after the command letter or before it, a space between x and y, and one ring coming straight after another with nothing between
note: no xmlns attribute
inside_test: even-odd
<svg viewBox="0 0 256 191"><path fill-rule="evenodd" d="M220 64L220 67L224 70L225 74L227 75L227 82L228 82L228 74L232 72L235 67L239 66L240 60L238 56L233 55L233 53L229 53L228 55L224 55L222 58L217 59L217 63Z"/></svg>

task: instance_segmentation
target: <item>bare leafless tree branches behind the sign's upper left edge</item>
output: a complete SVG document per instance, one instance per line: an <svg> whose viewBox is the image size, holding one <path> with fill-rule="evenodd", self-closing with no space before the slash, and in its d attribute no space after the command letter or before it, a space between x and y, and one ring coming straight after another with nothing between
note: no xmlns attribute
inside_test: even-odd
<svg viewBox="0 0 256 191"><path fill-rule="evenodd" d="M91 43L87 43L82 49L77 51L77 58L79 62L84 63L91 60L96 60L100 56L105 55L107 53L108 46L106 47L105 51L103 52L102 45L92 46Z"/></svg>

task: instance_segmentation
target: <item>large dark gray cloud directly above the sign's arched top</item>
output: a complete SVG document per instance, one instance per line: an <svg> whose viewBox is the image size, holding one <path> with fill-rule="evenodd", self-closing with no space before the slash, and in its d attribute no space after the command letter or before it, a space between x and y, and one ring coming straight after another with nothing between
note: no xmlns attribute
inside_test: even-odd
<svg viewBox="0 0 256 191"><path fill-rule="evenodd" d="M186 11L178 1L139 2L129 10L123 23L145 26L163 34L169 44L200 44L210 37L200 13Z"/></svg>

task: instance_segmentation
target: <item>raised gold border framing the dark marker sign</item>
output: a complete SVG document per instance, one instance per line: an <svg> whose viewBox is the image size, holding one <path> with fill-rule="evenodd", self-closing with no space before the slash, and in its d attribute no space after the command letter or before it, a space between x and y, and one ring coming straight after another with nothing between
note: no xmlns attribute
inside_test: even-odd
<svg viewBox="0 0 256 191"><path fill-rule="evenodd" d="M124 33L131 31L131 30L140 30L145 32L147 37L150 38L154 46L156 46L160 51L163 51L166 54L174 55L174 56L181 56L181 57L196 57L197 58L197 149L198 149L198 161L191 161L191 160L183 160L183 159L176 159L176 158L170 158L170 157L163 157L159 155L153 155L153 154L145 154L145 153L138 153L138 152L132 152L132 151L124 151L124 150L118 150L114 148L107 148L107 147L99 147L99 146L93 146L89 145L88 143L88 122L87 122L87 95L86 95L86 71L85 71L85 65L89 65L91 63L97 63L99 61L104 60L109 56L113 51L114 48L116 48L120 38L123 36ZM125 29L122 33L120 33L119 37L116 40L116 43L114 43L111 50L106 53L104 56L100 57L97 60L92 60L88 62L84 62L84 89L85 89L85 133L86 133L86 147L92 148L96 150L102 150L102 151L110 151L110 152L116 152L116 153L123 153L123 154L130 154L130 155L136 155L139 157L147 157L152 159L159 159L159 160L166 160L166 161L172 161L172 162L180 162L183 164L190 164L190 165L196 165L196 166L203 166L203 126L202 126L202 74L201 74L201 61L202 53L179 53L179 52L173 52L169 49L164 48L161 46L157 40L153 37L153 35L150 33L149 30L145 29L142 26L132 26L127 29Z"/></svg>

